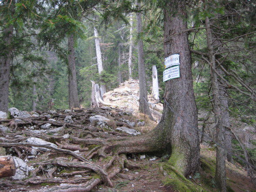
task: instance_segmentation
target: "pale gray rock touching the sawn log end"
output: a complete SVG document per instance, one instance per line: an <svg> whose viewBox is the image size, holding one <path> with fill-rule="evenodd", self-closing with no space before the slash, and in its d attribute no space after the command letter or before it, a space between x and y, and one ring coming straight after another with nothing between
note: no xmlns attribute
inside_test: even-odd
<svg viewBox="0 0 256 192"><path fill-rule="evenodd" d="M28 166L27 163L25 163L22 159L13 157L13 160L16 165L16 174L12 176L11 178L13 180L21 180L28 176Z"/></svg>

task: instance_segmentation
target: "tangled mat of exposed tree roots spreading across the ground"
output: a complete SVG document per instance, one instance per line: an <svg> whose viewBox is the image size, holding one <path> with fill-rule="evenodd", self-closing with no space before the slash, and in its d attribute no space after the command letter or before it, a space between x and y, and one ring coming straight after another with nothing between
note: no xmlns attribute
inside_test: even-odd
<svg viewBox="0 0 256 192"><path fill-rule="evenodd" d="M29 163L30 166L35 167L31 174L32 177L16 183L21 185L65 184L45 189L44 192L89 192L102 182L113 187L111 179L115 175L119 173L119 177L125 178L125 174L122 173L124 168L139 168L138 165L129 161L125 154L162 150L162 146L155 146L155 138L152 135L130 137L126 133L115 131L118 126L132 128L127 123L118 121L120 115L123 114L128 115L120 109L103 107L91 108L86 111L70 111L65 115L55 114L53 117L57 121L49 121L49 116L45 115L38 118L20 118L21 121L5 122L14 133L0 131L0 135L3 135L3 137L0 137L0 146L12 149L15 156L22 159L26 158L26 154L30 154L32 147L50 149L47 152L40 152L44 153L42 156L39 155L40 161ZM72 116L74 123L64 121L67 115ZM112 125L108 125L113 127L104 130L92 126L88 119L93 115L115 118ZM63 127L61 135L69 133L71 137L63 138L45 133L35 134L26 128L26 126L33 126L40 129L40 126L46 123L51 123L54 128ZM56 144L58 147L27 142L27 138L30 137L42 138ZM37 149L37 151L40 151L40 149ZM60 170L63 170L63 172ZM80 176L74 177L74 175Z"/></svg>

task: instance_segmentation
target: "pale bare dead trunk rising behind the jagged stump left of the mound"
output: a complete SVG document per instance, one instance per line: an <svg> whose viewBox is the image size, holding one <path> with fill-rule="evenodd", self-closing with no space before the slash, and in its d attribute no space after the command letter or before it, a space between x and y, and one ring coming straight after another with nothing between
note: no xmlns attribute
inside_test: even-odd
<svg viewBox="0 0 256 192"><path fill-rule="evenodd" d="M101 57L101 46L100 46L100 39L99 39L99 33L96 27L93 27L94 30L94 37L95 37L95 47L96 47L96 56L97 56L97 63L98 63L98 71L99 74L103 71L103 63L102 63L102 57ZM106 85L103 81L101 81L101 90L102 95L106 93Z"/></svg>

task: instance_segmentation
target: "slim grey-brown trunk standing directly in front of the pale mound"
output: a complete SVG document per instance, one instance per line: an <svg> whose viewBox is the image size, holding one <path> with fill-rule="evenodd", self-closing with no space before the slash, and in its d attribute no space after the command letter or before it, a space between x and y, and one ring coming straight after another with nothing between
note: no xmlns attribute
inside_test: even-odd
<svg viewBox="0 0 256 192"><path fill-rule="evenodd" d="M141 7L140 1L136 1L138 8ZM141 12L136 13L137 16L137 30L138 34L142 32L142 20ZM144 63L144 51L143 51L143 40L140 38L138 40L138 73L139 73L139 111L145 113L150 119L154 120L151 115L148 106L148 91L146 84L146 74L145 74L145 63Z"/></svg>

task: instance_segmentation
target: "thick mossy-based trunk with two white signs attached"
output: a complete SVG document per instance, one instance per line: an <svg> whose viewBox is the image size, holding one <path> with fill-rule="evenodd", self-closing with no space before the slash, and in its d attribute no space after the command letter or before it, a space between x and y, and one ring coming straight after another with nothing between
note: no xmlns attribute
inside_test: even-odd
<svg viewBox="0 0 256 192"><path fill-rule="evenodd" d="M169 162L183 175L189 176L198 171L200 148L186 18L185 1L169 0L166 3L165 57L180 54L180 77L166 81L164 97L168 103L164 104L156 131L163 131L165 142L171 146Z"/></svg>

